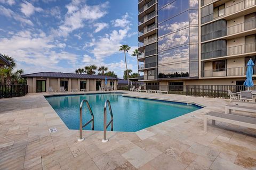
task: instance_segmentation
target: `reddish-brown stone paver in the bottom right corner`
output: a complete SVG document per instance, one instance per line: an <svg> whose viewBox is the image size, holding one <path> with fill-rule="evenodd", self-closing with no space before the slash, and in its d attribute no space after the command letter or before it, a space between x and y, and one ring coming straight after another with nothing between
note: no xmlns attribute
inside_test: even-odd
<svg viewBox="0 0 256 170"><path fill-rule="evenodd" d="M256 159L243 156L242 154L237 155L235 164L247 169L256 169Z"/></svg>

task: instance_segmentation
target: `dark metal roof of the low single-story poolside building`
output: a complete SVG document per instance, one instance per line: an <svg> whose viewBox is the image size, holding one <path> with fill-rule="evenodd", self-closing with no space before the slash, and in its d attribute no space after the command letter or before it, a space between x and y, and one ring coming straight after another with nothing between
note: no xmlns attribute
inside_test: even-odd
<svg viewBox="0 0 256 170"><path fill-rule="evenodd" d="M97 74L76 74L76 73L61 73L61 72L39 72L39 73L31 73L31 74L23 74L21 75L23 78L34 78L34 77L42 77L42 78L70 78L70 79L105 79L107 77L108 80L120 80L118 78L109 77L106 75L97 75Z"/></svg>

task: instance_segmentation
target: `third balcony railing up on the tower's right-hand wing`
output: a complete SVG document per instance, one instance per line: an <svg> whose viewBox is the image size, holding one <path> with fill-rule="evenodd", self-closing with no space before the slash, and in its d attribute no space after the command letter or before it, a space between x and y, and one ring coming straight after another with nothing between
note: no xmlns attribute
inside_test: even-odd
<svg viewBox="0 0 256 170"><path fill-rule="evenodd" d="M255 28L256 28L256 20L254 19L251 21L239 23L239 24L233 25L228 28L223 28L223 29L202 35L202 41L207 41L207 40L211 40L211 39L215 39L215 38L229 36L229 35L233 35L235 33L248 31L248 30L252 30Z"/></svg>

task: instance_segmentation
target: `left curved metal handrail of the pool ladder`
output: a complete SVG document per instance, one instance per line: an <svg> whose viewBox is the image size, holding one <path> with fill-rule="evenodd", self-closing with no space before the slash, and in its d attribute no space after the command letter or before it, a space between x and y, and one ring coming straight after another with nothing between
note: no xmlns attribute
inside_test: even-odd
<svg viewBox="0 0 256 170"><path fill-rule="evenodd" d="M88 109L91 113L92 119L83 125L82 113L83 113L83 104L84 104L84 102L86 103L86 105L87 105L87 107L88 107ZM89 102L86 99L83 99L81 101L81 104L80 104L80 130L79 130L79 139L77 139L78 142L82 142L84 140L84 138L83 138L83 128L91 122L92 122L92 130L94 130L94 115L92 113L92 109L89 105Z"/></svg>

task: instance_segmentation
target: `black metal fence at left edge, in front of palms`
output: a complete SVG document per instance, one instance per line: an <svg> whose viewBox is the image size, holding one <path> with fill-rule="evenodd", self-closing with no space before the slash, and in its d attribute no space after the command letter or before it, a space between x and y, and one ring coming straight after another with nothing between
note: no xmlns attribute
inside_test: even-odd
<svg viewBox="0 0 256 170"><path fill-rule="evenodd" d="M0 98L25 96L28 85L0 85Z"/></svg>

